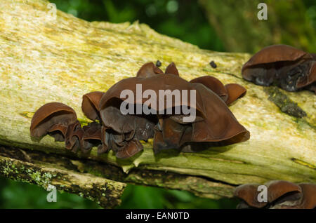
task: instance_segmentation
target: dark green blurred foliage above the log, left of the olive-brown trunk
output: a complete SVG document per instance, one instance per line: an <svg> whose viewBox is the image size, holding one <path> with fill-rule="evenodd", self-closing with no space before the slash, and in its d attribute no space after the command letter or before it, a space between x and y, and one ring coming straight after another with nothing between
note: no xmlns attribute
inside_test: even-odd
<svg viewBox="0 0 316 223"><path fill-rule="evenodd" d="M139 22L159 33L223 51L222 42L195 0L51 0L61 11L88 21Z"/></svg>

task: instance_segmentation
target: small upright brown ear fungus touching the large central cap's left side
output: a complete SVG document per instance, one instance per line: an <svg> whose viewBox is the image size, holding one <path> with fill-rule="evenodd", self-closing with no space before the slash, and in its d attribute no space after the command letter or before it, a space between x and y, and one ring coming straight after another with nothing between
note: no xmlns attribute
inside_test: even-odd
<svg viewBox="0 0 316 223"><path fill-rule="evenodd" d="M81 109L88 119L93 121L100 120L99 103L103 95L103 92L93 91L82 96Z"/></svg>

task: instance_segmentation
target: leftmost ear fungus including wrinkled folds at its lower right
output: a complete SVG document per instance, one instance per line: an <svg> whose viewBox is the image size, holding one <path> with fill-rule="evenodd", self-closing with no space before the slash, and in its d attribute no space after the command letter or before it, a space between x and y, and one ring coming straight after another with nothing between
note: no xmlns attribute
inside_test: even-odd
<svg viewBox="0 0 316 223"><path fill-rule="evenodd" d="M32 137L40 138L48 134L55 141L65 141L65 147L72 151L80 148L83 135L74 109L59 102L41 106L32 117L29 130Z"/></svg>

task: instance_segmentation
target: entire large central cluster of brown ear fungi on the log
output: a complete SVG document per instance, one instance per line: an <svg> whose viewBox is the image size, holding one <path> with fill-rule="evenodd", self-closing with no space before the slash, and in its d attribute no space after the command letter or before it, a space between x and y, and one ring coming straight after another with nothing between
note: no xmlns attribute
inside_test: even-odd
<svg viewBox="0 0 316 223"><path fill-rule="evenodd" d="M164 103L164 111L147 98L139 100L136 95L142 90L187 90L187 101L157 98ZM130 90L134 98L121 99L122 90ZM195 103L191 91L195 90ZM81 149L86 153L98 147L98 153L112 149L117 158L129 158L143 150L140 140L153 138L153 149L157 153L164 149L195 151L192 145L206 142L211 145L227 145L249 140L249 131L238 123L228 105L246 94L246 89L236 83L223 85L213 76L202 76L185 81L179 76L176 65L171 64L162 72L154 63L148 62L138 71L136 77L115 83L106 93L91 92L83 96L82 112L93 122L81 128L74 110L65 104L53 102L44 104L35 112L30 132L32 137L51 135L56 141L65 141L65 147L72 151ZM147 107L151 112L123 114L121 104L127 107ZM175 111L180 107L193 108L195 119L184 121L188 115ZM169 112L168 112L169 111Z"/></svg>

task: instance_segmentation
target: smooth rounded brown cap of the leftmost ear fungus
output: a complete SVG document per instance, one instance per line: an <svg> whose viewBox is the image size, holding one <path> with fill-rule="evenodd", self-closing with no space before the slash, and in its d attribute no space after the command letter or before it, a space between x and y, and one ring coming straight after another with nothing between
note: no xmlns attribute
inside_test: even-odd
<svg viewBox="0 0 316 223"><path fill-rule="evenodd" d="M29 130L32 137L42 137L55 130L60 130L65 135L65 126L76 121L74 109L60 102L51 102L44 104L34 113ZM60 139L61 136L57 137Z"/></svg>

